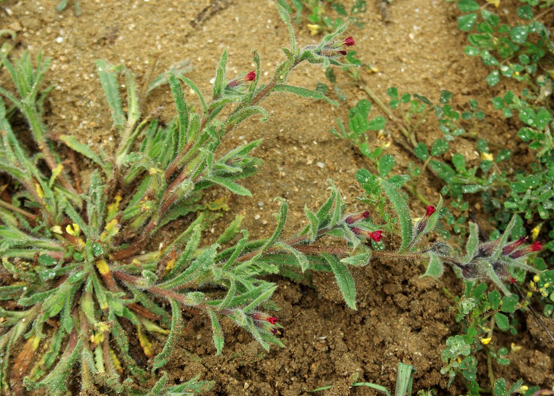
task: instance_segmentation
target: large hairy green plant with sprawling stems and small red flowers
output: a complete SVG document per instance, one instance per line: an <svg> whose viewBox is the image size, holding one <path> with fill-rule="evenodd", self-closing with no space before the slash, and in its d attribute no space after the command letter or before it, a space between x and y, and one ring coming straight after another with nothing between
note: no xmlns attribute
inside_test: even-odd
<svg viewBox="0 0 554 396"><path fill-rule="evenodd" d="M279 238L287 212L284 202L275 233L264 240L248 241L238 216L216 243L201 247L202 229L210 217L204 211L178 235L163 231L166 224L199 210L197 203L206 188L219 185L235 194L251 195L237 181L257 170L260 161L250 152L260 141L224 154L217 149L225 134L250 116L267 119L268 112L259 104L271 92L327 100L319 92L286 84L286 79L302 61L324 67L340 64L343 45L351 44L333 40L346 27L302 49L288 14L281 7L279 12L290 32L290 48L284 49L286 60L273 78L259 85L260 61L254 52L257 69L228 80L225 51L210 100L185 76L163 75L177 110L175 120L166 126L151 115L141 117L130 70L96 61L120 138L113 155L95 152L74 136L48 131L42 114L52 88L41 91L40 85L49 59L39 55L33 66L29 54L14 62L2 55L15 93L0 88L0 94L29 125L29 138L23 136L26 132L16 133L0 100L0 169L13 180L6 190L9 199L0 200L0 299L7 304L1 308L0 323L2 392L18 392L23 380L28 389L67 393L69 375L78 366L83 389L96 385L115 392L148 393L137 388L134 380L141 383L165 366L183 327L183 307L193 314L207 313L217 353L224 342L222 317L252 333L266 349L270 343L281 344L274 336L276 318L259 311L276 287L262 277L279 272L279 265L268 261L267 254L288 251L297 259L294 265L306 270L309 262L293 246L320 238L345 221L336 191L317 214L307 210L311 227L293 241ZM120 74L127 88L126 111L119 92ZM196 92L198 112L184 101L182 83ZM224 107L233 108L218 117ZM74 162L66 160L74 152L98 167L83 183L86 192L78 182L79 169L66 166ZM229 245L238 234L242 238ZM329 256L331 265L343 270L344 265L333 257ZM149 340L153 332L167 335L157 354ZM23 338L27 341L22 352L12 356ZM136 338L142 349L139 355L151 364L146 366L143 358L136 357L130 338ZM129 376L124 381L122 373ZM186 394L187 389L209 387L196 379L177 387L166 383L164 374L156 392L149 394Z"/></svg>

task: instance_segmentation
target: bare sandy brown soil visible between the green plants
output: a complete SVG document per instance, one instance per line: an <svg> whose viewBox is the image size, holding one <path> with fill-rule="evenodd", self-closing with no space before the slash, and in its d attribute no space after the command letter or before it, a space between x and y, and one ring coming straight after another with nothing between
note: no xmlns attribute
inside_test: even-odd
<svg viewBox="0 0 554 396"><path fill-rule="evenodd" d="M343 3L350 7L350 1ZM154 75L188 59L193 66L188 77L209 92L223 48L228 48L229 76L249 71L250 50L258 49L264 82L283 60L280 48L288 45L286 29L271 0L89 0L80 1L79 17L74 16L71 2L63 13L55 11L56 4L52 0L4 1L0 3L0 29L17 30L16 53L27 49L36 54L42 49L45 56L52 57L46 77L46 84L56 86L49 95L45 116L50 131L72 133L91 147L106 151L114 147L116 135L95 73L95 59L125 64L139 80L151 73L154 58ZM465 105L475 97L483 110L492 112L489 98L504 89L504 83L491 93L484 82L488 70L479 59L461 53L465 35L456 28L452 3L395 0L389 7L389 21L383 23L378 4L368 1L362 19L366 28L351 27L348 34L355 37L355 49L363 63L378 69L364 75L378 95L384 96L389 86L397 86L401 91L437 100L440 89L448 89L454 92L455 104ZM297 30L301 44L314 41L305 27ZM314 88L316 81L325 81L322 70L304 64L290 78L290 83L307 88ZM349 80L340 75L339 81ZM351 211L371 210L357 202L361 190L355 180L356 170L371 169L371 163L350 143L329 133L336 117L346 119L348 107L365 97L356 86L343 86L343 90L348 99L338 108L274 94L264 102L271 114L268 122L252 120L230 133L225 143L228 148L263 138L256 154L265 164L258 174L243 181L254 193L253 198L229 199L229 213L214 225L213 235L206 235L207 241L213 241L218 230L240 210L247 210L244 225L254 238L269 235L277 209L273 198L278 196L289 202L286 232L294 234L305 223L304 205L315 208L324 202L329 178L336 182ZM194 101L191 92L186 95L187 100ZM174 108L167 88L156 90L143 101L143 114L160 106L161 120L168 121ZM373 116L377 114L372 110ZM405 173L414 158L402 135L394 128L388 132L392 146L387 153L395 155L396 171ZM500 119L488 119L480 133L491 142L506 145L514 141L515 131ZM432 143L439 136L436 126L423 125L417 139ZM458 144L459 152L476 158L474 143L460 140ZM325 166L318 167L318 162ZM420 191L434 202L440 186L437 179L428 177ZM226 193L218 190L212 196L221 194ZM261 208L259 202L264 203ZM414 213L422 210L414 203ZM480 219L487 228L486 215ZM391 236L388 239L389 246L397 243ZM315 275L317 290L276 279L279 288L274 301L281 307L278 316L284 326L285 348L272 347L265 353L247 333L225 323L225 349L216 357L209 320L197 316L166 369L175 383L197 373L202 379L215 380L209 395L297 396L327 384L333 385L324 393L328 396L368 395L375 391L349 389L348 385L358 380L393 389L397 362L402 361L417 368L414 390L435 388L439 394L459 394L463 388L455 383L447 390L447 378L439 370L440 350L456 331L449 310L452 301L443 288L456 293L461 282L449 272L439 280L419 279L423 270L420 263L380 261L354 270L357 311L345 307L332 276ZM523 349L510 353L513 363L507 369L495 369L509 382L523 377L525 383L550 388L554 380L552 347L547 346L532 318L526 321L521 317L520 322L518 336L500 335L494 342L497 347L509 347L513 341ZM481 363L481 370L483 366ZM486 382L484 371L480 374Z"/></svg>

